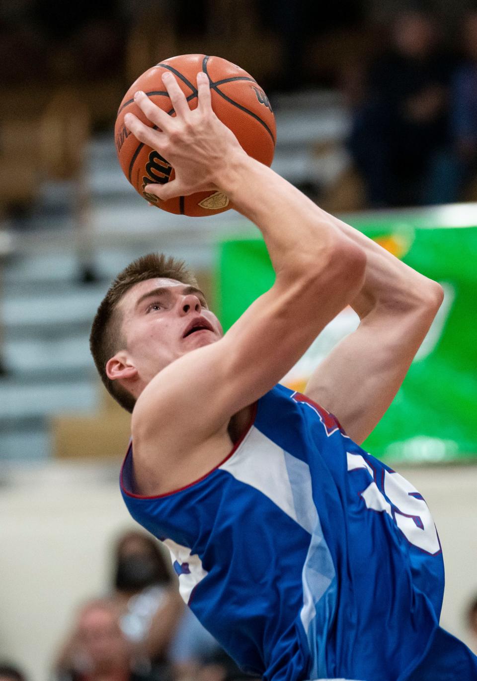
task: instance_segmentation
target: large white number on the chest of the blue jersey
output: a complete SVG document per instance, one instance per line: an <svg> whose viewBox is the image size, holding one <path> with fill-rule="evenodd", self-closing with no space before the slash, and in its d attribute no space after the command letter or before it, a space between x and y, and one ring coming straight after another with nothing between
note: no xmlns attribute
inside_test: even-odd
<svg viewBox="0 0 477 681"><path fill-rule="evenodd" d="M432 556L440 553L440 543L431 513L423 497L399 473L382 469L382 490L376 484L376 471L361 454L348 452L348 471L367 469L372 482L361 492L367 509L387 513L404 537Z"/></svg>

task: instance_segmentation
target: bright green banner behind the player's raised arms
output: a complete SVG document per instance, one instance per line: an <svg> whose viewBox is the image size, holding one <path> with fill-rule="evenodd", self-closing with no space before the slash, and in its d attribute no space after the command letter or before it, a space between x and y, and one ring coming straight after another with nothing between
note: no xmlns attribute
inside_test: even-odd
<svg viewBox="0 0 477 681"><path fill-rule="evenodd" d="M444 303L393 404L363 447L389 462L477 456L477 227L434 227L432 212L346 221L406 264L439 281ZM451 224L452 221L450 221ZM435 221L434 221L435 224ZM220 244L218 301L225 329L274 281L263 241ZM359 319L344 310L318 336L284 383L304 390L331 347Z"/></svg>

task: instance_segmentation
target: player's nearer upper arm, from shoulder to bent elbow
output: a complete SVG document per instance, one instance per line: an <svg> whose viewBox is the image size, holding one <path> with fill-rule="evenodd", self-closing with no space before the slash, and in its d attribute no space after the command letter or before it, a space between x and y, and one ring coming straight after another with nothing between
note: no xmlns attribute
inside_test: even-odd
<svg viewBox="0 0 477 681"><path fill-rule="evenodd" d="M365 257L346 238L330 239L319 264L314 255L279 273L223 338L150 381L133 411L135 443L185 455L280 381L362 284Z"/></svg>

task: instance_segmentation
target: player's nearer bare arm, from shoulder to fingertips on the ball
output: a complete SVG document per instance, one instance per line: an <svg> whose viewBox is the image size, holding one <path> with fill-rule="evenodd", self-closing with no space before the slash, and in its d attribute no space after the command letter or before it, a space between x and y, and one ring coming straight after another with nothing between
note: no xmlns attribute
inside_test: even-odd
<svg viewBox="0 0 477 681"><path fill-rule="evenodd" d="M163 118L145 95L139 97L139 106L162 132L159 136L137 119L128 125L139 140L157 146L177 178L148 191L161 198L204 188L227 193L261 229L276 281L222 339L167 366L139 396L133 438L152 438L174 447L178 456L223 429L282 378L357 296L365 268L363 249L295 187L248 157L212 112L208 84L198 79L198 87L199 108L191 112L174 78L167 81L178 112L174 119Z"/></svg>

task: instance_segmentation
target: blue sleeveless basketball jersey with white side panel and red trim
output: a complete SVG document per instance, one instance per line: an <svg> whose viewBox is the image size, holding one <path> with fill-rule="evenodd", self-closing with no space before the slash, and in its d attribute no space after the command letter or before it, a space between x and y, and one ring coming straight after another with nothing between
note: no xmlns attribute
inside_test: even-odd
<svg viewBox="0 0 477 681"><path fill-rule="evenodd" d="M418 668L448 681L460 660L459 679L477 678L475 656L438 627L444 566L423 497L305 396L274 387L229 456L175 492L135 494L132 456L131 515L167 545L182 598L244 671L404 681Z"/></svg>

